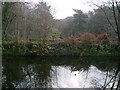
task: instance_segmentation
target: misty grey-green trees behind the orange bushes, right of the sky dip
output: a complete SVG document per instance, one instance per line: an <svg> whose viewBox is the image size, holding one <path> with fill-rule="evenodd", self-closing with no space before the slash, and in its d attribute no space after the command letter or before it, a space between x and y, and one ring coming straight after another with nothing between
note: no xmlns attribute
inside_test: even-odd
<svg viewBox="0 0 120 90"><path fill-rule="evenodd" d="M110 39L118 40L119 31L117 30L117 26L120 20L119 7L117 8L117 5L114 5L114 16L112 2L110 5L102 4L101 6L96 6L98 7L97 9L94 9L94 11L89 11L88 13L73 9L75 12L73 16L55 20L55 26L62 32L61 37L65 39L70 35L78 37L80 35L79 33L90 32L94 34L101 34L107 32L110 34ZM117 25L115 22L115 17Z"/></svg>

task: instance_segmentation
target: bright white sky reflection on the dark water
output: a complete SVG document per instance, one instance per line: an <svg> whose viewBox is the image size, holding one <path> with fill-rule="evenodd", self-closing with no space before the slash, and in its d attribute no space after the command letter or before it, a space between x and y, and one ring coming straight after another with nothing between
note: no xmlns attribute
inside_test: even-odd
<svg viewBox="0 0 120 90"><path fill-rule="evenodd" d="M105 72L101 72L94 66L90 66L89 71L73 71L69 67L52 67L56 73L51 74L53 87L62 88L89 88L93 87L92 80L97 78L101 84L105 78Z"/></svg>

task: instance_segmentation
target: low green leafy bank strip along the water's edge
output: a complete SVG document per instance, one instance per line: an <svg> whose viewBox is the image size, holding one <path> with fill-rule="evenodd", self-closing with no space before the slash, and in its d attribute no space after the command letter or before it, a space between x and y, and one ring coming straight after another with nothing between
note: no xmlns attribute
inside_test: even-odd
<svg viewBox="0 0 120 90"><path fill-rule="evenodd" d="M120 56L120 45L80 43L3 43L3 55L19 56Z"/></svg>

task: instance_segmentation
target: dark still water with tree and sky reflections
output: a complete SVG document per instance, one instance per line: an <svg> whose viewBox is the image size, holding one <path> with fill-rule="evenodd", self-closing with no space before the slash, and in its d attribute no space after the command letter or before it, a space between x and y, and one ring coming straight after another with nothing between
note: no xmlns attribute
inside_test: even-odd
<svg viewBox="0 0 120 90"><path fill-rule="evenodd" d="M3 88L117 88L120 57L5 57Z"/></svg>

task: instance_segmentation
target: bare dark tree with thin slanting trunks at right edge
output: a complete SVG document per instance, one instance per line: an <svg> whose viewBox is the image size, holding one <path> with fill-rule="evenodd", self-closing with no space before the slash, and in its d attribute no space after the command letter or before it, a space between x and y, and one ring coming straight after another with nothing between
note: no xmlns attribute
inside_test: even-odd
<svg viewBox="0 0 120 90"><path fill-rule="evenodd" d="M108 13L104 9L104 7L107 6L108 3L109 3L108 7L109 6L112 7L112 9L110 8L110 10L113 12L115 25L111 22L110 18L108 17ZM120 41L120 2L117 0L111 0L110 2L107 2L107 4L102 3L102 5L97 5L92 2L92 5L97 6L104 13L106 20L116 33L118 41Z"/></svg>

